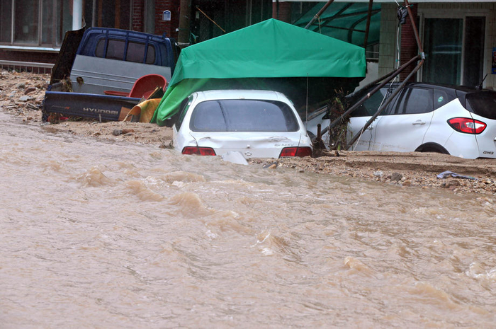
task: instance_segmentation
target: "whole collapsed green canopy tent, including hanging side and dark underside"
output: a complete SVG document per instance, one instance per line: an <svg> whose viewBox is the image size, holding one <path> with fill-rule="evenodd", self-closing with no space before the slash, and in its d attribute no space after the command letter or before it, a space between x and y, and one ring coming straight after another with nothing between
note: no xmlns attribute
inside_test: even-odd
<svg viewBox="0 0 496 329"><path fill-rule="evenodd" d="M365 70L363 48L269 19L182 50L152 122L166 125L184 98L210 89L281 91L298 109L352 90Z"/></svg>

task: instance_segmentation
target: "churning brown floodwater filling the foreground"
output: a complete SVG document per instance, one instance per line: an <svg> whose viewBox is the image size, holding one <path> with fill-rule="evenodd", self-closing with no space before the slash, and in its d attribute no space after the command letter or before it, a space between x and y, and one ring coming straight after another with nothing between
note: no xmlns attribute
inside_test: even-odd
<svg viewBox="0 0 496 329"><path fill-rule="evenodd" d="M496 204L0 113L1 328L482 327Z"/></svg>

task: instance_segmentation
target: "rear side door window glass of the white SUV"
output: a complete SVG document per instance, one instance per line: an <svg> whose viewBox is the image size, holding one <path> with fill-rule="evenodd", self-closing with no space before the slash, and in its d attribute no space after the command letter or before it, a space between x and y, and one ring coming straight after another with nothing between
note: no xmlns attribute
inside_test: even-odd
<svg viewBox="0 0 496 329"><path fill-rule="evenodd" d="M392 114L418 114L434 110L432 103L432 89L405 88L398 102L393 105Z"/></svg>

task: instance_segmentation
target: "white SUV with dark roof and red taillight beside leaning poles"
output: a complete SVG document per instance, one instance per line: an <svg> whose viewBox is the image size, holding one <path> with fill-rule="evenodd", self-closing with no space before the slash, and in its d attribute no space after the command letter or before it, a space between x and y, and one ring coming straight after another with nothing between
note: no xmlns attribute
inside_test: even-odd
<svg viewBox="0 0 496 329"><path fill-rule="evenodd" d="M359 134L396 86L397 83L386 85L351 113L348 140ZM372 88L352 96L351 105ZM329 120L322 120L322 116L314 116L308 126L316 126L317 122L321 122L322 127L329 125ZM312 129L310 132L315 134ZM408 83L350 149L424 151L462 158L496 158L496 92Z"/></svg>

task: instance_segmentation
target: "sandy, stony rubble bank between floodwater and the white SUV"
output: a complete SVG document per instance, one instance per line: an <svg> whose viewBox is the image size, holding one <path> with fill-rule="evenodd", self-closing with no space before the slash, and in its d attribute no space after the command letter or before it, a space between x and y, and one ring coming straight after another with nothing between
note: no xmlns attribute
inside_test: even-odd
<svg viewBox="0 0 496 329"><path fill-rule="evenodd" d="M496 195L496 159L465 159L446 154L419 152L339 151L319 158L280 158L274 161L254 159L251 163L273 168L294 168L298 172L349 176L363 180L424 189L444 187L453 192L473 192ZM264 167L265 168L265 167ZM451 169L471 175L463 178L439 179L439 173Z"/></svg>

